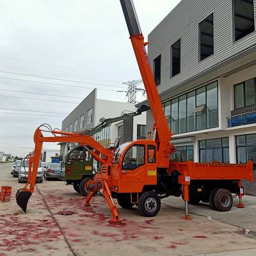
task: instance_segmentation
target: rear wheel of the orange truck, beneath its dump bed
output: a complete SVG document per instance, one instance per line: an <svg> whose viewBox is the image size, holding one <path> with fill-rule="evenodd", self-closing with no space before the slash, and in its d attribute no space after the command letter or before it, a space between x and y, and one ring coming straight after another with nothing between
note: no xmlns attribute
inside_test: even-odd
<svg viewBox="0 0 256 256"><path fill-rule="evenodd" d="M229 211L233 205L233 197L227 189L218 189L214 195L213 201L216 210L220 212Z"/></svg>

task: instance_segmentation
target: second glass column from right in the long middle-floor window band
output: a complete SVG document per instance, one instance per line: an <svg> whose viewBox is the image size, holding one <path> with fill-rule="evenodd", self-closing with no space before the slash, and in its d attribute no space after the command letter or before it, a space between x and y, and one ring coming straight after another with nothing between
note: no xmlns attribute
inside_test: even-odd
<svg viewBox="0 0 256 256"><path fill-rule="evenodd" d="M205 86L196 90L196 107L204 106L206 104ZM196 113L196 130L206 129L206 111Z"/></svg>

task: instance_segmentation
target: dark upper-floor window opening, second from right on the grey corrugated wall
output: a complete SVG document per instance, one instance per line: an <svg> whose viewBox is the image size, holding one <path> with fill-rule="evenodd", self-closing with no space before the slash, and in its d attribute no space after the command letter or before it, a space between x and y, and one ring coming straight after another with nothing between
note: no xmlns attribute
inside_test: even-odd
<svg viewBox="0 0 256 256"><path fill-rule="evenodd" d="M199 23L200 61L214 53L213 13Z"/></svg>

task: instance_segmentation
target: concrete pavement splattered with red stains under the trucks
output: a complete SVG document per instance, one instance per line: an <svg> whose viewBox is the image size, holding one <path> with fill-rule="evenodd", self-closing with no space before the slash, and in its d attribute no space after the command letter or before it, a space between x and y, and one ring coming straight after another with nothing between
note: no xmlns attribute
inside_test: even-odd
<svg viewBox="0 0 256 256"><path fill-rule="evenodd" d="M256 198L247 196L246 209L233 207L230 212L215 212L208 205L190 207L191 221L182 220L180 199L166 198L155 218L139 216L136 207L118 208L124 223L110 225L104 198L95 196L92 207L84 207L84 198L57 180L37 184L24 214L15 202L22 184L10 175L10 168L0 164L0 186L13 188L11 201L0 203L0 256L256 255L253 232L243 230L256 231Z"/></svg>

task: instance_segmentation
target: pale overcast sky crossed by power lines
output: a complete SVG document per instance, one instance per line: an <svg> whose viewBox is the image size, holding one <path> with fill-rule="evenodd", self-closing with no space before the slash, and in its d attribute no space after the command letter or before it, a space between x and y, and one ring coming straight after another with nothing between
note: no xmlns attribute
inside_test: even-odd
<svg viewBox="0 0 256 256"><path fill-rule="evenodd" d="M177 3L134 0L146 38ZM28 154L36 127L61 128L64 116L95 87L100 99L127 101L125 93L107 91L125 90L122 82L140 79L118 0L0 0L0 7L0 151Z"/></svg>

